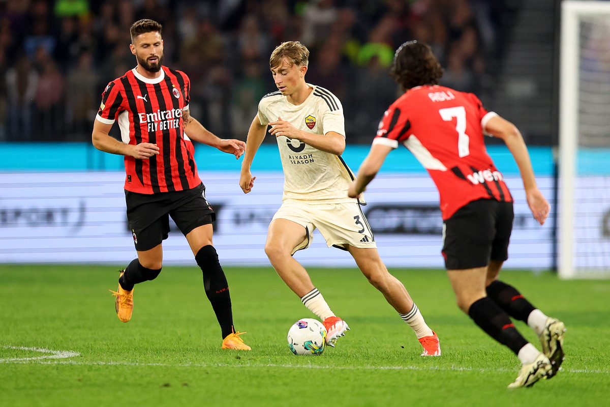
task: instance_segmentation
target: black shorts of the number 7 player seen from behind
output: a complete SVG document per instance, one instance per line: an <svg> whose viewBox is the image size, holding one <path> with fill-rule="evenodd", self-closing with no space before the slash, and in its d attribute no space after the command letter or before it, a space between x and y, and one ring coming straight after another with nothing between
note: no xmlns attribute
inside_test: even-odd
<svg viewBox="0 0 610 407"><path fill-rule="evenodd" d="M462 206L443 223L443 258L447 270L486 267L508 259L512 202L477 200Z"/></svg>

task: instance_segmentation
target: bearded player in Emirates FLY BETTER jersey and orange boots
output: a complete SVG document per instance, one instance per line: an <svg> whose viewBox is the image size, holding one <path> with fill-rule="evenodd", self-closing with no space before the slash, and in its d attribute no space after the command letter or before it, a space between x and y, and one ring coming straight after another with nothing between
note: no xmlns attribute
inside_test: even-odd
<svg viewBox="0 0 610 407"><path fill-rule="evenodd" d="M125 156L127 221L138 258L121 272L115 306L127 322L134 307L134 285L161 272L162 241L169 217L187 239L203 272L204 289L220 324L223 349L249 350L234 331L229 287L212 245L215 213L197 175L190 139L234 154L245 143L219 139L188 113L190 81L181 71L162 65L162 26L140 20L131 26L131 49L137 67L110 82L93 125L93 145ZM122 142L109 135L118 120ZM188 134L188 137L187 137Z"/></svg>

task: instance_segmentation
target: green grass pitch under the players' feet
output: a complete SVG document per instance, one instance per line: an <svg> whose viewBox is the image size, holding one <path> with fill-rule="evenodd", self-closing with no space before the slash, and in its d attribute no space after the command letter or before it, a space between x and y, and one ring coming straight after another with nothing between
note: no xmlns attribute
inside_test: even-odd
<svg viewBox="0 0 610 407"><path fill-rule="evenodd" d="M122 323L108 291L117 289L112 266L0 265L0 406L610 405L610 281L503 272L567 326L562 371L510 391L517 358L459 311L441 270L390 270L439 334L442 356L429 358L355 268L309 270L351 327L320 356L290 353L290 325L314 315L272 268L225 271L252 351L220 349L195 267L165 267L139 284Z"/></svg>

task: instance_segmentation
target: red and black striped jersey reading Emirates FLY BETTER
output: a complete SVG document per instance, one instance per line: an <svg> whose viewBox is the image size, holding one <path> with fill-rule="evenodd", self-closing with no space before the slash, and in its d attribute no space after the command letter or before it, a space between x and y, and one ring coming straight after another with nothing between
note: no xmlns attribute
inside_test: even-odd
<svg viewBox="0 0 610 407"><path fill-rule="evenodd" d="M107 85L96 120L106 124L118 120L124 143L159 147L159 154L148 160L125 157L126 190L157 193L201 184L195 149L182 123L189 92L188 76L167 67L162 67L156 79L147 79L134 68Z"/></svg>

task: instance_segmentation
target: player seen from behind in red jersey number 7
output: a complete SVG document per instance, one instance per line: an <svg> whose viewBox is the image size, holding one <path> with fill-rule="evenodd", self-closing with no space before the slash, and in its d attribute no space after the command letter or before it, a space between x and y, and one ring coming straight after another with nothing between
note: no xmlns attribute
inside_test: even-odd
<svg viewBox="0 0 610 407"><path fill-rule="evenodd" d="M498 279L508 259L514 218L512 196L487 155L484 134L502 139L517 162L529 208L542 225L550 205L536 185L528 150L519 130L487 112L472 93L439 86L440 63L428 45L404 43L390 75L404 95L379 123L373 145L348 195L359 196L399 143L428 170L440 194L445 267L459 308L493 339L511 348L522 362L509 387L531 386L559 370L564 323L535 308ZM511 322L526 322L539 336L542 352Z"/></svg>

